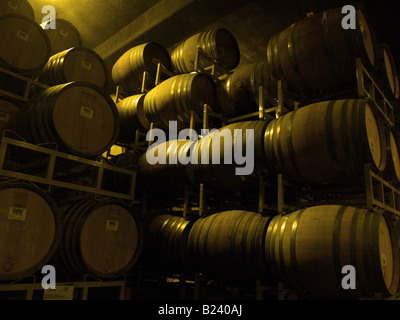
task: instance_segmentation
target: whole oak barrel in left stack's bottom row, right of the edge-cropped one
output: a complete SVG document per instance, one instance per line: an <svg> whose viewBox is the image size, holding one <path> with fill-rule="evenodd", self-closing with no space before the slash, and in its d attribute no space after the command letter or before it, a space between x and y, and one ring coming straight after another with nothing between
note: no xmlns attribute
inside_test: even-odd
<svg viewBox="0 0 400 320"><path fill-rule="evenodd" d="M81 199L63 208L57 258L66 272L111 279L126 274L143 246L140 218L118 200Z"/></svg>

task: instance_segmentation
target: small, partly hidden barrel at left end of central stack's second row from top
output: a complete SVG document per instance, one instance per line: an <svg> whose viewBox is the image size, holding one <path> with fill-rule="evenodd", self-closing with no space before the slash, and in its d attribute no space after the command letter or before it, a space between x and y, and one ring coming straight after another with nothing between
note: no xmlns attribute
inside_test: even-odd
<svg viewBox="0 0 400 320"><path fill-rule="evenodd" d="M150 130L151 123L144 112L144 98L146 94L137 94L117 103L121 130L119 141L134 142L136 130L147 133Z"/></svg>

